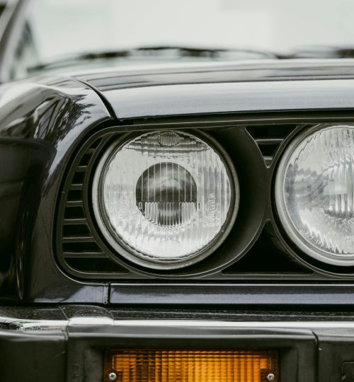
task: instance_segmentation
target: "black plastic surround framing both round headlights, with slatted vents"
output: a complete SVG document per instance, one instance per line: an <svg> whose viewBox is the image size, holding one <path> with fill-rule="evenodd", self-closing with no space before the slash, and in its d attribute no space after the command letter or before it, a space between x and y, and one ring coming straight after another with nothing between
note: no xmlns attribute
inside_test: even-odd
<svg viewBox="0 0 354 382"><path fill-rule="evenodd" d="M84 280L112 280L126 282L128 280L151 280L152 278L170 280L187 280L198 282L205 279L212 282L245 282L248 280L353 280L354 269L351 267L327 267L324 264L308 258L299 248L287 238L282 230L273 195L275 172L287 144L292 137L303 129L329 123L329 116L299 116L294 121L283 116L235 117L178 117L161 120L130 121L113 127L103 126L96 132L89 133L76 147L67 175L62 180L62 192L58 199L57 224L55 228L55 252L59 267L72 277ZM274 118L274 120L273 120ZM338 118L335 122L338 122ZM352 122L348 117L342 117L343 122ZM333 123L333 122L331 122ZM101 236L92 221L90 200L86 193L91 182L93 163L98 160L99 153L107 147L110 139L135 132L152 131L156 129L183 129L193 134L200 129L212 135L232 158L239 175L241 190L240 208L235 224L226 240L210 256L195 265L181 270L148 270L115 254L115 250ZM75 182L74 182L75 180ZM81 183L70 185L70 183ZM74 188L73 188L73 187ZM80 190L76 190L79 186ZM80 193L81 202L74 201L72 192ZM79 204L82 207L74 207ZM81 209L81 216L67 216L69 209ZM72 215L72 214L70 214ZM74 215L74 214L73 214ZM67 219L69 218L69 219ZM79 237L67 237L67 226L83 224L86 232ZM79 227L79 226L77 226ZM76 230L75 230L76 232ZM71 234L71 231L70 231ZM79 235L79 233L77 234ZM75 236L77 236L75 233ZM268 243L264 241L268 236ZM79 248L73 253L72 244ZM70 248L69 248L70 244ZM267 247L263 247L263 244ZM272 248L275 251L275 261L280 260L280 267L265 267L265 262L271 261L273 253L264 255L263 249ZM246 256L244 256L246 255ZM268 260L267 260L268 259ZM278 260L277 260L278 259ZM256 262L259 261L259 264ZM265 261L265 262L264 262ZM268 264L270 264L268 262ZM278 264L278 262L277 262ZM273 269L274 268L274 269Z"/></svg>

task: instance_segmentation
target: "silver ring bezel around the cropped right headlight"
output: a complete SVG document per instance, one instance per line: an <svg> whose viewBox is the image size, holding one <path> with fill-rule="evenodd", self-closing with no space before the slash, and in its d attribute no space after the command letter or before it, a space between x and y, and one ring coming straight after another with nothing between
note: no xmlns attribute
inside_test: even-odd
<svg viewBox="0 0 354 382"><path fill-rule="evenodd" d="M312 261L319 262L319 265L316 266L322 268L323 270L326 267L341 267L344 269L349 269L354 266L353 260L348 260L346 255L333 255L325 250L319 250L309 241L307 241L303 236L299 234L297 228L292 222L290 215L287 212L287 206L285 202L285 174L287 171L287 166L289 164L292 154L297 149L299 144L301 144L305 139L312 136L312 134L323 131L325 129L331 129L334 127L350 127L354 128L353 124L348 123L320 123L312 125L310 127L299 129L297 134L292 137L288 137L289 141L282 148L280 157L278 158L277 168L275 169L275 180L273 186L274 192L274 202L275 202L275 213L278 215L278 224L280 228L285 232L287 238L290 242L298 248L304 256L307 256L309 263ZM299 254L301 255L301 253Z"/></svg>

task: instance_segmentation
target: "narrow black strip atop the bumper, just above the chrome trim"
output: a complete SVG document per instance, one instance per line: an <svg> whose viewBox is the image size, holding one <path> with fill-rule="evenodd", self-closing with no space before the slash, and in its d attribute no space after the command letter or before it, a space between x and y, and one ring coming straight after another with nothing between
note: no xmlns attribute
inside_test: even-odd
<svg viewBox="0 0 354 382"><path fill-rule="evenodd" d="M56 306L42 304L42 306L0 306L0 321L2 328L20 330L21 322L43 320L44 322L69 321L72 318L110 318L112 320L205 320L206 322L220 321L222 323L244 322L288 322L288 323L326 323L343 322L354 323L354 310L329 311L325 307L316 310L294 306L294 309L276 310L268 308L247 308L236 306L223 309L217 306L210 308L130 308L106 307L97 305L57 304ZM7 323L4 323L7 321ZM59 325L59 324L58 324Z"/></svg>

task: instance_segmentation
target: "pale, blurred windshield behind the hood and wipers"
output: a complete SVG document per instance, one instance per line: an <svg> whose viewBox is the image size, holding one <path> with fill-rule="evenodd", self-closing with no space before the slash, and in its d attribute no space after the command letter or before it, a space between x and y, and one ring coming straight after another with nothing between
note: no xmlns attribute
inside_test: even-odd
<svg viewBox="0 0 354 382"><path fill-rule="evenodd" d="M72 66L83 53L137 47L229 49L234 54L164 49L81 57L86 62L80 65L93 59L102 65L112 58L110 64L132 58L333 57L333 47L354 47L353 14L353 0L32 0L12 76L25 76L39 64L63 58L64 66Z"/></svg>

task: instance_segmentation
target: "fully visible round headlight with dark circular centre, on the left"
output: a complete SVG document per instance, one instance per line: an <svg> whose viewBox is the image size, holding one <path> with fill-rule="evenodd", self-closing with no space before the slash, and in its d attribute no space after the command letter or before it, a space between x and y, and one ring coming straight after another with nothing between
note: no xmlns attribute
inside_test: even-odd
<svg viewBox="0 0 354 382"><path fill-rule="evenodd" d="M105 238L127 259L156 269L209 255L231 229L238 206L236 171L205 134L120 139L93 178L93 209Z"/></svg>

